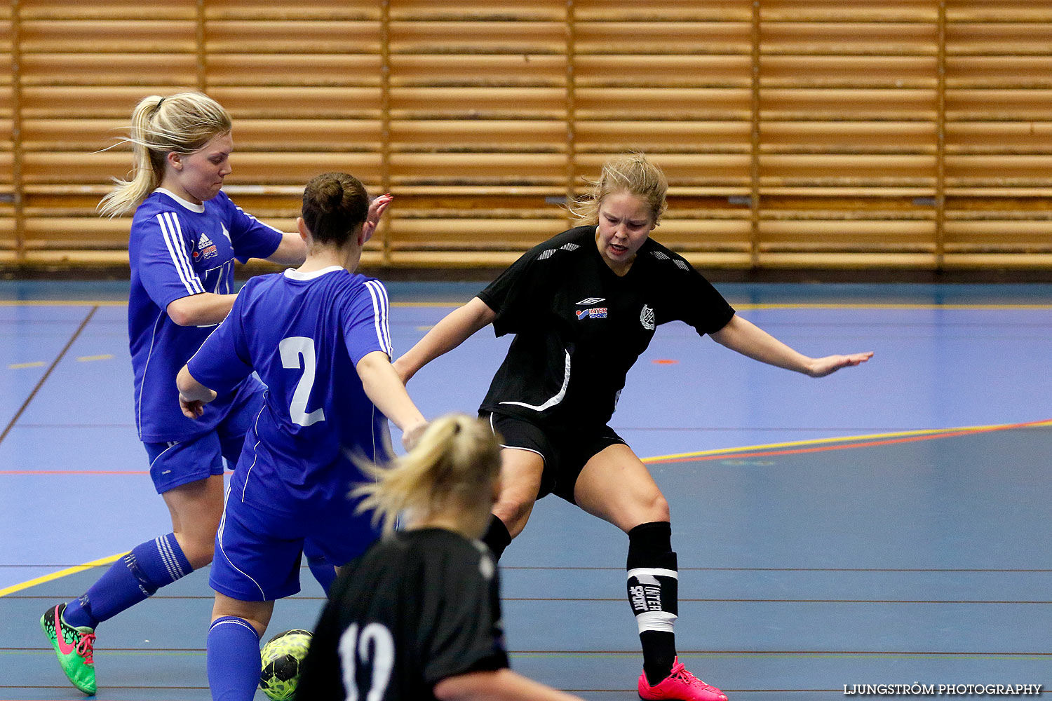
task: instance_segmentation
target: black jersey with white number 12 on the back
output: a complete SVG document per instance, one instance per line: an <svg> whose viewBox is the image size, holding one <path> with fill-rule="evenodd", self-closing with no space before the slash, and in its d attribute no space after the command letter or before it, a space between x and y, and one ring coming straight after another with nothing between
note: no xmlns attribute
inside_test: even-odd
<svg viewBox="0 0 1052 701"><path fill-rule="evenodd" d="M341 572L297 698L434 699L434 684L447 677L506 666L489 550L421 529L378 541Z"/></svg>

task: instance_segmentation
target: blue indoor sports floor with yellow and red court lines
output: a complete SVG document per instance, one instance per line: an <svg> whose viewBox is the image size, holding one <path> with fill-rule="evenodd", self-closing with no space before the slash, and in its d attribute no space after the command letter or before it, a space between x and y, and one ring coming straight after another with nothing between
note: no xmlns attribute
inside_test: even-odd
<svg viewBox="0 0 1052 701"><path fill-rule="evenodd" d="M396 349L480 287L390 284ZM681 660L732 701L1052 687L1052 286L717 287L805 353L875 355L810 379L670 325L629 374L612 426L672 508ZM0 701L82 698L40 614L170 530L133 424L125 294L0 283ZM480 332L410 393L473 412L506 344ZM638 698L626 540L538 504L502 560L515 669ZM100 626L97 698L207 699L210 596L198 573ZM306 575L268 633L320 605Z"/></svg>

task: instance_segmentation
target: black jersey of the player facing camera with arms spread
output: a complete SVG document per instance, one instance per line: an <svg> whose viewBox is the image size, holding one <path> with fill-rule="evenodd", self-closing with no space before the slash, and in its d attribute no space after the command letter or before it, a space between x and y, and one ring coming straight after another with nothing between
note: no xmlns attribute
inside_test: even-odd
<svg viewBox="0 0 1052 701"><path fill-rule="evenodd" d="M683 256L652 239L616 275L593 226L527 251L479 297L497 312L497 335L515 334L481 411L561 427L610 420L628 369L661 324L679 319L705 334L734 315Z"/></svg>

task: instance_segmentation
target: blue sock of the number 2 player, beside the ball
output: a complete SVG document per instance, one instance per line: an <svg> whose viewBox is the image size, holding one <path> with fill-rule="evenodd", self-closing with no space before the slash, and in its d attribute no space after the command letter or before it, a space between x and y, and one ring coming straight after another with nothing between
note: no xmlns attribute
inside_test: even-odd
<svg viewBox="0 0 1052 701"><path fill-rule="evenodd" d="M251 701L260 683L260 637L252 624L221 616L208 628L208 687L213 701Z"/></svg>

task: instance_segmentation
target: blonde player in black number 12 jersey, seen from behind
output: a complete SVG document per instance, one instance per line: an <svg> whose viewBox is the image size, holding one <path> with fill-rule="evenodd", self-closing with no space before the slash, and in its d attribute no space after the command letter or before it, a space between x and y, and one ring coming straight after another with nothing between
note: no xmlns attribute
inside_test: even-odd
<svg viewBox="0 0 1052 701"><path fill-rule="evenodd" d="M433 421L392 469L371 469L377 482L356 494L385 537L341 568L296 698L576 699L508 668L497 564L477 539L500 470L497 438L463 414Z"/></svg>

